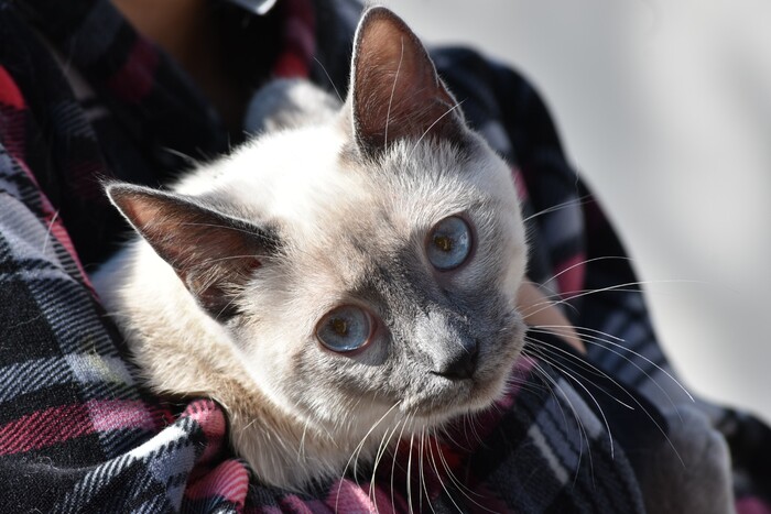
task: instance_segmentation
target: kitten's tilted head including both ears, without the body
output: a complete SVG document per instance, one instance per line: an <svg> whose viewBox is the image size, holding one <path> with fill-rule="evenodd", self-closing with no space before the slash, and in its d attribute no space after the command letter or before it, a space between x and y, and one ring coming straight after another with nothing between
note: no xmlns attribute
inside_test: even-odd
<svg viewBox="0 0 771 514"><path fill-rule="evenodd" d="M526 253L510 169L399 18L365 14L336 118L216 167L184 194L108 190L276 404L438 424L501 394Z"/></svg>

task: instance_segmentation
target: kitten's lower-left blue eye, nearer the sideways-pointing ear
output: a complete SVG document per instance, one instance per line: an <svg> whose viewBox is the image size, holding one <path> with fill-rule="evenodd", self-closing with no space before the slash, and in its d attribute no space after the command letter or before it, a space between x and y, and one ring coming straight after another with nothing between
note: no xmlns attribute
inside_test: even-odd
<svg viewBox="0 0 771 514"><path fill-rule="evenodd" d="M354 305L337 307L322 318L316 337L332 351L347 352L367 345L372 333L371 316Z"/></svg>

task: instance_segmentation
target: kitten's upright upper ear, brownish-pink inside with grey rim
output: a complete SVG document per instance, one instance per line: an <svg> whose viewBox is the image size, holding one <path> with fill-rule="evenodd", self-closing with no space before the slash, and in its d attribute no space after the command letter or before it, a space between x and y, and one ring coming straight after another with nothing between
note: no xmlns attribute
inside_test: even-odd
<svg viewBox="0 0 771 514"><path fill-rule="evenodd" d="M463 140L457 101L417 36L386 8L359 22L348 102L356 142L370 156L400 139Z"/></svg>

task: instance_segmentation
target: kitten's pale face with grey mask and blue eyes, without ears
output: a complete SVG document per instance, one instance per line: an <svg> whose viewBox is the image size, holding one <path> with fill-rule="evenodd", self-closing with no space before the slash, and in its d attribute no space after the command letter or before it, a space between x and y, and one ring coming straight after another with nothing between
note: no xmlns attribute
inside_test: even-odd
<svg viewBox="0 0 771 514"><path fill-rule="evenodd" d="M467 136L374 161L341 151L314 172L328 193L303 222L276 220L282 255L231 322L274 397L330 422L397 404L439 422L501 393L522 345L524 236L508 167Z"/></svg>

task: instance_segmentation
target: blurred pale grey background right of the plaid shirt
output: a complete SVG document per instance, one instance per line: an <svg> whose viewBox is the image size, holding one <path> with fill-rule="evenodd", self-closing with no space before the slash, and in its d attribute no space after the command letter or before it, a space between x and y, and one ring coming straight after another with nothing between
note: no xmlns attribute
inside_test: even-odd
<svg viewBox="0 0 771 514"><path fill-rule="evenodd" d="M685 383L771 420L771 4L380 0L515 67L647 282Z"/></svg>

